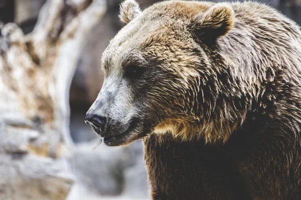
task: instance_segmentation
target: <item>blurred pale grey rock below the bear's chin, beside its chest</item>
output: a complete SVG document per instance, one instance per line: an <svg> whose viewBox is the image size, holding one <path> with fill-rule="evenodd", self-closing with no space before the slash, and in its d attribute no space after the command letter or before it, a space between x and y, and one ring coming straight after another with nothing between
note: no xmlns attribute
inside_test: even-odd
<svg viewBox="0 0 301 200"><path fill-rule="evenodd" d="M68 199L80 199L75 198L80 195L78 190L95 197L121 195L129 199L147 198L147 173L141 141L126 147L102 144L92 150L98 139L74 147L72 167L77 176L74 185L77 189L72 189Z"/></svg>

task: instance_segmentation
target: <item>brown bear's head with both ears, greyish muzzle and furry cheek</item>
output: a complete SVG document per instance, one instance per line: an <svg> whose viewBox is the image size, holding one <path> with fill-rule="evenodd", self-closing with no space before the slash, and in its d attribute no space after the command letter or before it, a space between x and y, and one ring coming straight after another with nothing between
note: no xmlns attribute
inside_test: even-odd
<svg viewBox="0 0 301 200"><path fill-rule="evenodd" d="M125 0L119 17L126 25L103 52L105 78L86 122L111 146L150 133L225 139L237 120L215 106L223 68L214 46L231 31L231 6L179 0L141 11Z"/></svg>

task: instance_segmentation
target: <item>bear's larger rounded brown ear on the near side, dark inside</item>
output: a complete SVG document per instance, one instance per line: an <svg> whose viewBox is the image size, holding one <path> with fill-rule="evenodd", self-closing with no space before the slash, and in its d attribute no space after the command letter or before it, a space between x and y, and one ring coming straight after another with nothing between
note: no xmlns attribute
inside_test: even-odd
<svg viewBox="0 0 301 200"><path fill-rule="evenodd" d="M193 21L195 30L204 40L215 41L233 27L234 11L227 3L217 3Z"/></svg>

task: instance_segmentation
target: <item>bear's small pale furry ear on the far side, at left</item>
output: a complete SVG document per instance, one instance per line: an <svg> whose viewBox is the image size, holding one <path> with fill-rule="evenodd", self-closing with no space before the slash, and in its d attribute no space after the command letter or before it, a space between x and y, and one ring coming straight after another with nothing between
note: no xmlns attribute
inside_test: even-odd
<svg viewBox="0 0 301 200"><path fill-rule="evenodd" d="M135 0L125 0L120 4L119 18L125 24L133 20L139 13L141 13L141 9Z"/></svg>

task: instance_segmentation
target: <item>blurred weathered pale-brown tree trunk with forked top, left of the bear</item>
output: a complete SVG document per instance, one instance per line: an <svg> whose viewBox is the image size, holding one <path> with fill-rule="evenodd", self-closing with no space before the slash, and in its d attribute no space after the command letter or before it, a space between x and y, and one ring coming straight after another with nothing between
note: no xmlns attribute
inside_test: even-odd
<svg viewBox="0 0 301 200"><path fill-rule="evenodd" d="M105 12L102 0L47 0L33 32L0 37L0 199L65 199L69 87L80 50Z"/></svg>

